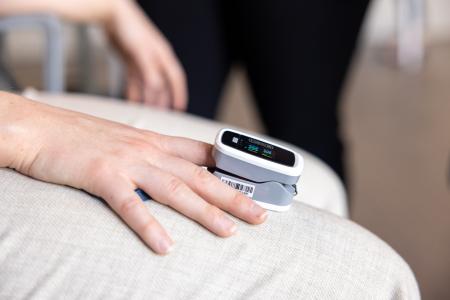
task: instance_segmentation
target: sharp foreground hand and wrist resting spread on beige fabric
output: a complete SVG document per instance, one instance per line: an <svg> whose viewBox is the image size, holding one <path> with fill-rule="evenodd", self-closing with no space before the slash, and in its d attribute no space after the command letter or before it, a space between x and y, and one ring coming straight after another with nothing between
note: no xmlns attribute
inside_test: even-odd
<svg viewBox="0 0 450 300"><path fill-rule="evenodd" d="M136 188L221 237L237 229L226 212L251 224L266 219L264 209L200 167L214 165L211 150L0 92L0 167L103 198L158 254L173 241Z"/></svg>

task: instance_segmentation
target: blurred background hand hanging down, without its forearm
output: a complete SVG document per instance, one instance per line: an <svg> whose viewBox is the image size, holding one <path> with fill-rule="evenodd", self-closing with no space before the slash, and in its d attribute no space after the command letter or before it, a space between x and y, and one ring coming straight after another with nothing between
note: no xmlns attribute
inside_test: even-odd
<svg viewBox="0 0 450 300"><path fill-rule="evenodd" d="M167 40L133 1L111 3L106 28L127 64L129 101L185 110L185 74Z"/></svg>

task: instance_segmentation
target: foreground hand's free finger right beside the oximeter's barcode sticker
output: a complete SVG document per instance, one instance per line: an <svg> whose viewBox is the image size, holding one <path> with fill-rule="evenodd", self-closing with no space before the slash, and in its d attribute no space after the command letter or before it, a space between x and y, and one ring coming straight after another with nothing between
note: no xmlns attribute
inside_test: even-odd
<svg viewBox="0 0 450 300"><path fill-rule="evenodd" d="M239 191L222 183L205 168L176 157L161 157L156 162L163 170L176 174L194 192L214 206L251 224L260 224L267 211Z"/></svg>

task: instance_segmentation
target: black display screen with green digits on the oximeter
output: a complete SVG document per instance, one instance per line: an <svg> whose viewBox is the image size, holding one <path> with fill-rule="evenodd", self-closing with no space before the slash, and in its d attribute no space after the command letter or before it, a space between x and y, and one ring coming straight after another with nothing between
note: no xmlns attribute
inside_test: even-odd
<svg viewBox="0 0 450 300"><path fill-rule="evenodd" d="M232 131L223 133L222 143L285 166L293 167L295 164L295 155L291 151Z"/></svg>

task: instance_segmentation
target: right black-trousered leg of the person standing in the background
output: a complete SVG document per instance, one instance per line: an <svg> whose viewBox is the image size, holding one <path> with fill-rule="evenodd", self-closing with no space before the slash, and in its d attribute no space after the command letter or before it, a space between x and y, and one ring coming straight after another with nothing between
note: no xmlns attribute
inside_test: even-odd
<svg viewBox="0 0 450 300"><path fill-rule="evenodd" d="M368 1L233 1L238 47L268 133L343 177L338 98ZM236 26L235 26L236 27Z"/></svg>

